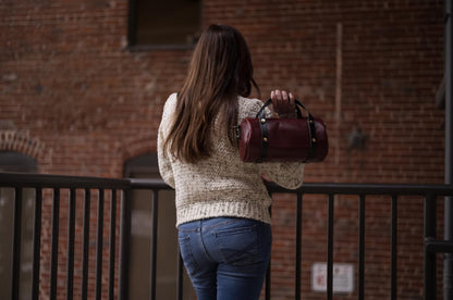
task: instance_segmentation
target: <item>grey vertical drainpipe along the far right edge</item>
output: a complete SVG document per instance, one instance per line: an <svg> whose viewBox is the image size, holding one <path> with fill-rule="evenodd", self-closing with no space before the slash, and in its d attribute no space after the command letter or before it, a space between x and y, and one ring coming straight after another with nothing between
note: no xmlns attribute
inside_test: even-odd
<svg viewBox="0 0 453 300"><path fill-rule="evenodd" d="M453 184L453 0L445 0L444 63L445 63L445 184ZM444 239L453 241L453 197L445 197ZM443 261L443 299L453 299L453 254L446 253Z"/></svg>

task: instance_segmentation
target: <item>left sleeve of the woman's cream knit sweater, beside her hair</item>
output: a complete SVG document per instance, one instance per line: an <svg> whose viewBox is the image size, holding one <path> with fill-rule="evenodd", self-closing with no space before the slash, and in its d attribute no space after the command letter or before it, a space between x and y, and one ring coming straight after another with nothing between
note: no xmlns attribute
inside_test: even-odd
<svg viewBox="0 0 453 300"><path fill-rule="evenodd" d="M162 113L162 121L160 122L158 138L157 138L157 157L159 163L159 173L162 179L172 188L174 188L174 175L170 162L170 153L163 152L163 141L168 135L168 129L172 122L172 112L174 111L174 104L176 100L176 93L172 93L166 102Z"/></svg>

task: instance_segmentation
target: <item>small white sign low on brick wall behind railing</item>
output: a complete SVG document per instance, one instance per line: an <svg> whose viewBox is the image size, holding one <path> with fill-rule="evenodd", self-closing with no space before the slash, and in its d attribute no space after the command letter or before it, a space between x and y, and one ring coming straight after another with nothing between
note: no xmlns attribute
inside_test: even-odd
<svg viewBox="0 0 453 300"><path fill-rule="evenodd" d="M314 263L311 266L311 290L327 291L327 264ZM354 291L354 265L347 263L333 264L333 292Z"/></svg>

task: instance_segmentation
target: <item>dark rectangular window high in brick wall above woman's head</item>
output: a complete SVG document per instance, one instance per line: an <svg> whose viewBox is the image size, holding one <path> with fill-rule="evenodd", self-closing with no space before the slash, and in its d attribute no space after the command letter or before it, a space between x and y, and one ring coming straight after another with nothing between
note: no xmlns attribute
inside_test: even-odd
<svg viewBox="0 0 453 300"><path fill-rule="evenodd" d="M201 16L200 0L130 0L128 46L192 48Z"/></svg>

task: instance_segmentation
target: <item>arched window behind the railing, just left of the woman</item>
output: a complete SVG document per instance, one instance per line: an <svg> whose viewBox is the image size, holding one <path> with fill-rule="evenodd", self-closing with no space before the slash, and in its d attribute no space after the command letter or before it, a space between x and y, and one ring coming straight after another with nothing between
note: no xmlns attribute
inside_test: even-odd
<svg viewBox="0 0 453 300"><path fill-rule="evenodd" d="M157 154L128 160L125 177L160 178ZM128 249L128 299L149 299L152 193L134 190L131 201L131 238ZM177 233L174 191L159 191L157 233L156 299L176 299ZM184 272L183 300L196 299Z"/></svg>

